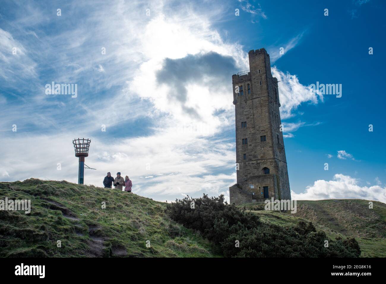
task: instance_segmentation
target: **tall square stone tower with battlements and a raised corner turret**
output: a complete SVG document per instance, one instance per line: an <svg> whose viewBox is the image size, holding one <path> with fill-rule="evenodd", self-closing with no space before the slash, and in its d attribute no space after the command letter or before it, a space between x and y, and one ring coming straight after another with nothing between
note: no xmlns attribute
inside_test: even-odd
<svg viewBox="0 0 386 284"><path fill-rule="evenodd" d="M272 77L264 48L248 55L250 70L232 76L238 170L237 183L229 188L230 204L291 199L278 79Z"/></svg>

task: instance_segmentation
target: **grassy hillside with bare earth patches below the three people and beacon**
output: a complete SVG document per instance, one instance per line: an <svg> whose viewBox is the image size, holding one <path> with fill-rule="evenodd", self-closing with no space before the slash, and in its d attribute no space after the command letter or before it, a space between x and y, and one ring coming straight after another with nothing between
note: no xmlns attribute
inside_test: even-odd
<svg viewBox="0 0 386 284"><path fill-rule="evenodd" d="M0 183L5 197L30 199L32 209L0 211L0 257L219 256L200 235L168 219L166 203L136 194L27 179Z"/></svg>

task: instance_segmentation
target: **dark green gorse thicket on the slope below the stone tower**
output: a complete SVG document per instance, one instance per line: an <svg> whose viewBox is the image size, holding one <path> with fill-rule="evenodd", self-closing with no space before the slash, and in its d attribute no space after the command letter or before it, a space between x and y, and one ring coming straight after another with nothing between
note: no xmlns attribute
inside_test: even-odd
<svg viewBox="0 0 386 284"><path fill-rule="evenodd" d="M167 205L171 219L198 230L222 249L225 257L359 257L355 238L330 240L312 223L282 227L224 202L224 196L176 199ZM239 246L236 246L237 241ZM328 246L325 241L328 241Z"/></svg>

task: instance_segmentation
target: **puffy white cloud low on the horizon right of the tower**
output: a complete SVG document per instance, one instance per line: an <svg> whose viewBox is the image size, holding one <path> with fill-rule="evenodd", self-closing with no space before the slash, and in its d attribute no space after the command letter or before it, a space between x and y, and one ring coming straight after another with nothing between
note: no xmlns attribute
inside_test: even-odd
<svg viewBox="0 0 386 284"><path fill-rule="evenodd" d="M335 174L332 181L318 180L303 193L291 191L296 200L366 199L386 203L386 188L380 185L359 186L359 181L344 174Z"/></svg>

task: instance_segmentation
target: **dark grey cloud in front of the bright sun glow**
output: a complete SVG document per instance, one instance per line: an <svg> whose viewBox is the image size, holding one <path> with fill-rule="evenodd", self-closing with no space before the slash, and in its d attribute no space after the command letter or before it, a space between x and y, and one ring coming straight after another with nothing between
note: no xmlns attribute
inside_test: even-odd
<svg viewBox="0 0 386 284"><path fill-rule="evenodd" d="M190 83L223 85L230 84L230 78L236 70L235 60L230 56L222 56L217 52L188 54L179 59L166 58L162 69L156 73L157 83L170 87L169 100L177 100L181 108L192 117L199 118L192 107L185 106L188 91L186 86ZM203 79L206 83L203 82ZM215 91L216 88L211 90Z"/></svg>

